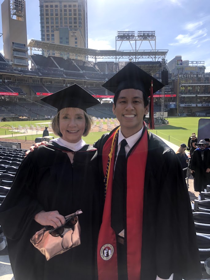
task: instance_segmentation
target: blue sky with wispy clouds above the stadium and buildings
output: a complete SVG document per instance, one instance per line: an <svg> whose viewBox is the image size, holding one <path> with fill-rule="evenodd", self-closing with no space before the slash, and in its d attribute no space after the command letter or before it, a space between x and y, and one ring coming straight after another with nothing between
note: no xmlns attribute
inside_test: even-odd
<svg viewBox="0 0 210 280"><path fill-rule="evenodd" d="M115 49L117 31L155 30L156 49L168 49L168 61L176 55L182 55L183 60L204 60L206 72L210 72L209 0L87 0L87 3L89 48ZM40 40L38 0L26 0L26 18L28 40ZM130 47L123 42L121 49ZM149 42L142 43L141 49L150 49Z"/></svg>

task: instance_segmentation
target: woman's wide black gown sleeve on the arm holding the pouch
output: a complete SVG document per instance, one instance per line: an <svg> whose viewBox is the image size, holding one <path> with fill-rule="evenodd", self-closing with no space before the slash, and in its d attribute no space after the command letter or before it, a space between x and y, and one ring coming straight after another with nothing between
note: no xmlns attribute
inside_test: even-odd
<svg viewBox="0 0 210 280"><path fill-rule="evenodd" d="M36 151L30 153L19 166L13 184L0 206L0 224L9 239L19 239L34 216L43 210L36 199Z"/></svg>

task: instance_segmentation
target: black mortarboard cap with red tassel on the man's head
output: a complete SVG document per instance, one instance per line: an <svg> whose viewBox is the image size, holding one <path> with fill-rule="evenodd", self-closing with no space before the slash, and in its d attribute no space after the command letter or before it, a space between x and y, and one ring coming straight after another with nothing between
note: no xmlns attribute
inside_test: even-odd
<svg viewBox="0 0 210 280"><path fill-rule="evenodd" d="M151 81L153 81L153 93L164 87L164 84L134 63L129 62L117 74L103 84L103 87L114 94L127 88L139 89L143 91L146 98L148 98L150 96Z"/></svg>

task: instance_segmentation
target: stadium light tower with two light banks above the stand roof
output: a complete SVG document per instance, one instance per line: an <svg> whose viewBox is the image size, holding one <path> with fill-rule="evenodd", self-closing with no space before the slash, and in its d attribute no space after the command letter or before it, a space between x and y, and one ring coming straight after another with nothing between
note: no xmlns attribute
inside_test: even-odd
<svg viewBox="0 0 210 280"><path fill-rule="evenodd" d="M152 51L156 51L156 36L155 36L155 31L117 31L117 36L115 37L115 49L116 51L120 50L120 47L122 45L123 41L128 41L130 43L131 49L135 52L137 52L141 45L142 42L148 41L151 46ZM135 42L135 49L131 45L131 42ZM151 41L154 41L154 47L151 44ZM117 49L117 42L121 42L119 48ZM139 42L139 46L137 46L137 42ZM136 61L136 58L135 58ZM137 60L138 61L138 60ZM156 58L155 58L156 61Z"/></svg>

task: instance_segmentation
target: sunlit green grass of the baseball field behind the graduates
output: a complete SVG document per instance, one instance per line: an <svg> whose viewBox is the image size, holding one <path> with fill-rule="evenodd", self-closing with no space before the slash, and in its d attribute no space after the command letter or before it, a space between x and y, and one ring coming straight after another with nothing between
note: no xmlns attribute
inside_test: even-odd
<svg viewBox="0 0 210 280"><path fill-rule="evenodd" d="M171 117L169 118L169 124L168 125L162 125L162 126L155 126L155 130L152 130L154 134L157 134L161 138L164 138L165 140L168 140L169 142L179 146L181 143L187 144L188 139L190 135L195 132L197 134L198 132L198 121L200 117ZM17 122L1 122L0 126L4 125L13 125L17 127L19 124L21 126L25 126L27 124L28 126L34 125L36 126L36 123L39 122L46 122L48 124L49 121L17 121ZM106 122L105 122L106 123ZM99 124L99 123L98 123ZM40 126L40 125L39 125ZM11 131L8 131L7 128L0 128L0 134L5 135L11 134ZM9 129L10 130L10 129ZM106 133L107 131L103 132L90 132L86 137L83 137L84 141L88 144L93 144L96 142L102 134ZM39 132L37 132L39 133ZM15 133L13 133L15 134ZM49 134L50 136L54 136L57 138L54 134ZM42 137L41 134L34 134L34 135L27 135L26 140L35 140L36 137ZM15 139L19 140L25 140L25 136L18 136L13 137Z"/></svg>

